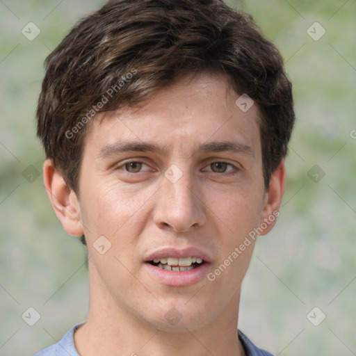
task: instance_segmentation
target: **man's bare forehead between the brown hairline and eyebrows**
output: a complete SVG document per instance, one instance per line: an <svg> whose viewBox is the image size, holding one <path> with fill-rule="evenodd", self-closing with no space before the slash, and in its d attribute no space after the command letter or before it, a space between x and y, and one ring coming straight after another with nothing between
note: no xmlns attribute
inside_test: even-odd
<svg viewBox="0 0 356 356"><path fill-rule="evenodd" d="M117 140L161 143L181 151L210 140L236 141L259 146L259 110L242 111L223 75L182 76L156 90L139 108L102 113L92 122L86 146L102 150ZM257 142L258 141L258 142ZM257 147L254 147L255 149Z"/></svg>

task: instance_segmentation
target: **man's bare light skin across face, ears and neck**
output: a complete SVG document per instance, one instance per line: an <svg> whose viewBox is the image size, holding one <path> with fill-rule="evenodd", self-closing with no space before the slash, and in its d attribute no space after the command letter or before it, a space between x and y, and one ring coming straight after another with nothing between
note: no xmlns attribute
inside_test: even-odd
<svg viewBox="0 0 356 356"><path fill-rule="evenodd" d="M80 355L245 355L236 325L254 241L213 282L167 286L145 269L145 257L161 247L194 246L209 254L212 272L280 208L284 161L266 190L258 107L243 113L239 96L223 75L182 76L141 108L101 114L85 140L78 195L44 162L56 215L67 233L85 234L88 244L88 322L74 334ZM250 152L197 151L216 140ZM104 146L132 141L167 152L100 156ZM125 166L129 160L145 164ZM211 164L217 161L237 169ZM164 175L171 165L182 173L175 183ZM99 236L111 242L104 254L93 247ZM175 325L165 318L172 307L181 316Z"/></svg>

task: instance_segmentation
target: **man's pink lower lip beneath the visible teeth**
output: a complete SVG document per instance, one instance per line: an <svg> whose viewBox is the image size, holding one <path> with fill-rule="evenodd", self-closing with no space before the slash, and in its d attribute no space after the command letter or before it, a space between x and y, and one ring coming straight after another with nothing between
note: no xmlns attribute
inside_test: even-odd
<svg viewBox="0 0 356 356"><path fill-rule="evenodd" d="M162 268L149 264L149 262L146 262L145 266L154 280L167 286L190 286L206 277L210 268L208 262L205 262L193 270L184 270L182 272L163 270Z"/></svg>

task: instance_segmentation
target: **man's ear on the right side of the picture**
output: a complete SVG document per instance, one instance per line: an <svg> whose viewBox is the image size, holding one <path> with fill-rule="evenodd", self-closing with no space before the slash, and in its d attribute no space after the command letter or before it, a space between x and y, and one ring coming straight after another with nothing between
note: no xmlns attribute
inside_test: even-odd
<svg viewBox="0 0 356 356"><path fill-rule="evenodd" d="M280 216L280 205L286 188L286 165L284 160L278 165L270 177L270 184L265 193L264 209L261 216L261 226L266 226L260 235L266 235L275 226L277 217ZM262 225L264 223L264 225Z"/></svg>

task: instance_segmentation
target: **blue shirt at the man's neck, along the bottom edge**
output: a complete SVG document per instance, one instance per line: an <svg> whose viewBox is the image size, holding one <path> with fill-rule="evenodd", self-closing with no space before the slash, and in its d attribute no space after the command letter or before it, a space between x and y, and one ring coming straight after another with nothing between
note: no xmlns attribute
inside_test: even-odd
<svg viewBox="0 0 356 356"><path fill-rule="evenodd" d="M74 332L81 325L83 325L83 323L74 325L60 341L48 348L44 348L33 356L79 356L74 345ZM238 339L240 339L245 349L246 356L272 356L267 351L257 348L240 330L238 330Z"/></svg>

